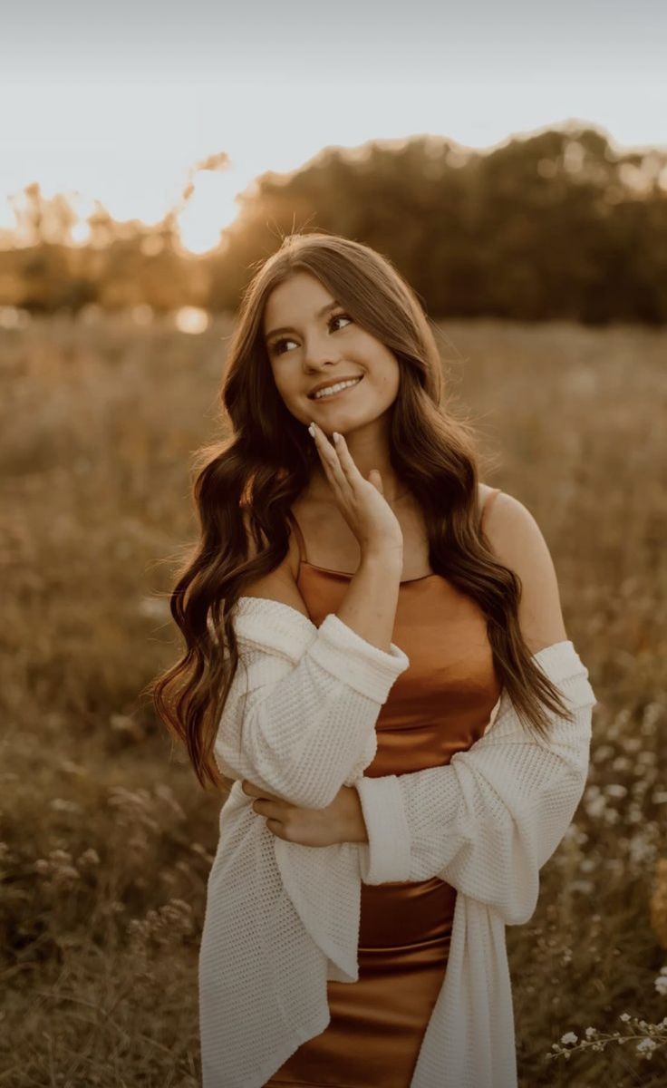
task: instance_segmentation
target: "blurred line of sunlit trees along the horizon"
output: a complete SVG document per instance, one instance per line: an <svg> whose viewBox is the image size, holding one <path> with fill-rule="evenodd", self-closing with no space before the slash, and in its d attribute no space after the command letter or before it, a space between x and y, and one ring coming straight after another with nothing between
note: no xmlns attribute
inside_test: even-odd
<svg viewBox="0 0 667 1088"><path fill-rule="evenodd" d="M76 245L66 201L24 193L30 244L0 250L0 305L234 310L284 234L323 230L385 254L439 318L667 322L667 154L617 153L592 127L490 152L440 136L326 148L256 178L201 256L183 248L176 210L147 226L98 203Z"/></svg>

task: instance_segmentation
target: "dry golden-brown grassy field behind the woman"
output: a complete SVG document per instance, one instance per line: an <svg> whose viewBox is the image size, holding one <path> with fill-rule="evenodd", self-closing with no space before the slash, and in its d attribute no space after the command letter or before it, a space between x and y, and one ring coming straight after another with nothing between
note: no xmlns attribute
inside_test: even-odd
<svg viewBox="0 0 667 1088"><path fill-rule="evenodd" d="M0 1088L199 1084L221 798L137 693L177 652L164 594L196 533L189 459L217 433L231 327L0 329ZM507 930L521 1088L657 1088L664 1046L545 1054L667 1014L667 332L441 330L482 479L542 527L600 701L577 818L535 915Z"/></svg>

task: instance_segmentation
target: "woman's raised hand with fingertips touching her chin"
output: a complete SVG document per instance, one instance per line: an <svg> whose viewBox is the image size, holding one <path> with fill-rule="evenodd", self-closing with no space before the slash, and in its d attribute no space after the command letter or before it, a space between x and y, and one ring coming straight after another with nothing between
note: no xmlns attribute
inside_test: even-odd
<svg viewBox="0 0 667 1088"><path fill-rule="evenodd" d="M343 435L337 444L331 443L317 423L312 425L324 474L336 506L359 541L361 558L387 553L403 556L403 530L384 498L378 469L371 469L365 480Z"/></svg>

